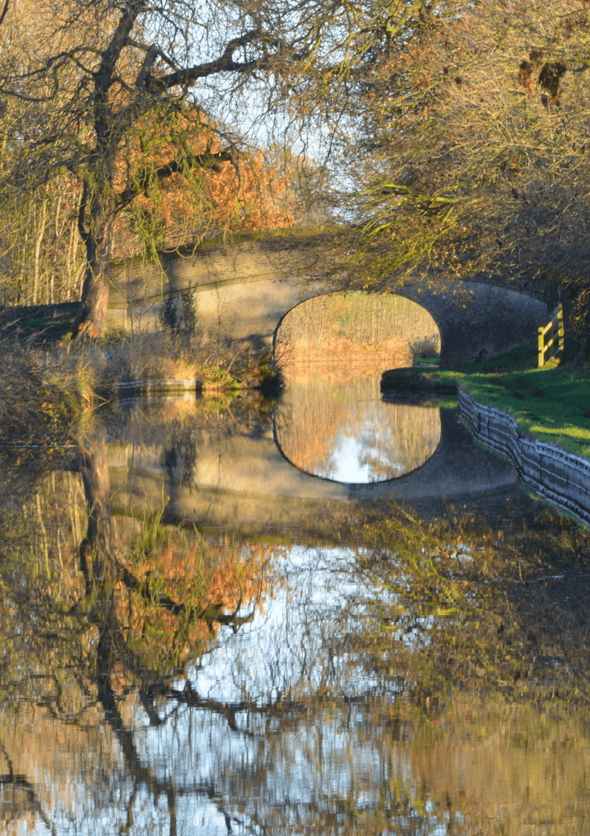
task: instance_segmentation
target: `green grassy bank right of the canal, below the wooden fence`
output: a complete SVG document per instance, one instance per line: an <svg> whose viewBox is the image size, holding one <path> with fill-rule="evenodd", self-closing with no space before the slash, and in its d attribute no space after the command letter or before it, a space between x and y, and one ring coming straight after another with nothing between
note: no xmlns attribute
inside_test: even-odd
<svg viewBox="0 0 590 836"><path fill-rule="evenodd" d="M505 410L526 436L590 458L590 370L550 360L537 368L534 345L501 357L445 370L386 372L388 386L424 386L447 393L458 383L475 400Z"/></svg>

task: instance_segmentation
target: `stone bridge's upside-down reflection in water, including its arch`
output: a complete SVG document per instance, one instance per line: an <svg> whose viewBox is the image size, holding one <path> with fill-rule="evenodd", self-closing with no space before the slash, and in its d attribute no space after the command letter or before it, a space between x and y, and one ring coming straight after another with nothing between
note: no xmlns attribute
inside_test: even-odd
<svg viewBox="0 0 590 836"><path fill-rule="evenodd" d="M107 447L114 505L152 511L164 492L170 520L221 526L264 520L281 528L302 518L321 520L328 503L338 515L348 513L351 502L458 502L516 483L510 463L476 446L455 409L384 403L377 400L378 386L377 379L348 388L296 382L265 423L236 421L231 432L210 426L188 471L180 449L164 455L160 443L140 431L140 415L156 407L135 405L130 426L138 431ZM338 454L347 445L343 464Z"/></svg>

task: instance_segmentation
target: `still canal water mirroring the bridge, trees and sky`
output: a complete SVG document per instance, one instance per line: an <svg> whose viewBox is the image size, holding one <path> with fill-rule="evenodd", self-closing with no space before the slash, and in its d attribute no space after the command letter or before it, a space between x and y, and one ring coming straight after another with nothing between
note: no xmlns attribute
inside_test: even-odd
<svg viewBox="0 0 590 836"><path fill-rule="evenodd" d="M452 401L101 411L3 453L0 832L590 832L590 537Z"/></svg>

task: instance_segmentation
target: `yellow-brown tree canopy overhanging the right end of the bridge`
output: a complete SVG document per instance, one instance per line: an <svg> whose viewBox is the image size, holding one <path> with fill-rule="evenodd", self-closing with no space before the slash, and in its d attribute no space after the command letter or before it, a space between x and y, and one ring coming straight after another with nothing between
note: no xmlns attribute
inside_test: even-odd
<svg viewBox="0 0 590 836"><path fill-rule="evenodd" d="M589 56L585 3L499 0L430 18L368 68L346 149L366 283L559 283L582 335Z"/></svg>

